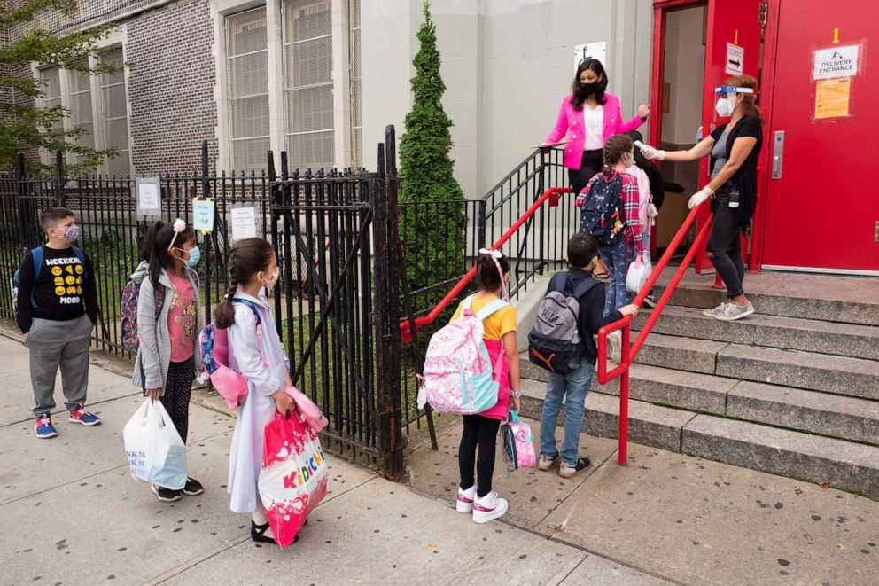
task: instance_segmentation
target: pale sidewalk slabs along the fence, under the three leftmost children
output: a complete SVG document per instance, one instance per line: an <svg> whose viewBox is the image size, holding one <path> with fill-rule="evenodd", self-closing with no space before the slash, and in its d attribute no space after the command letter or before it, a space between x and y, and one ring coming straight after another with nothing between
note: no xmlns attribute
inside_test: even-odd
<svg viewBox="0 0 879 586"><path fill-rule="evenodd" d="M90 428L63 417L58 385L58 437L38 440L27 348L0 337L0 356L0 583L665 583L530 528L477 525L445 495L335 457L299 543L255 544L225 490L233 419L191 406L188 459L205 494L160 503L128 474L122 427L142 401L128 377L92 366L88 407L103 423Z"/></svg>

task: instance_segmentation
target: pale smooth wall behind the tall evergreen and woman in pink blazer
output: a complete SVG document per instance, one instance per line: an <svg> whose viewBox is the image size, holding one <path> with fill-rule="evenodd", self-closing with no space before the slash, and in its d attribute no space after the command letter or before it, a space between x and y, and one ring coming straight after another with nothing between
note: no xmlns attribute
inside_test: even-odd
<svg viewBox="0 0 879 586"><path fill-rule="evenodd" d="M362 4L363 146L403 132L421 0ZM478 198L548 134L574 74L574 45L608 43L609 90L624 116L649 103L651 0L433 0L455 176ZM642 129L646 129L642 127Z"/></svg>

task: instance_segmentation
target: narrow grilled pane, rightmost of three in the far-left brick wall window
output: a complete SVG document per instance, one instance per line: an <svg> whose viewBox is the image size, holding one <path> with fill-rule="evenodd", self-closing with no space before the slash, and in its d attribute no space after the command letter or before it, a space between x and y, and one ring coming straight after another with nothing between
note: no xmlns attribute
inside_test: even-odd
<svg viewBox="0 0 879 586"><path fill-rule="evenodd" d="M122 49L101 53L101 63L117 66L124 64ZM131 174L131 155L128 142L128 90L125 72L101 75L101 96L104 105L104 138L106 148L119 151L106 161L106 171L111 175Z"/></svg>

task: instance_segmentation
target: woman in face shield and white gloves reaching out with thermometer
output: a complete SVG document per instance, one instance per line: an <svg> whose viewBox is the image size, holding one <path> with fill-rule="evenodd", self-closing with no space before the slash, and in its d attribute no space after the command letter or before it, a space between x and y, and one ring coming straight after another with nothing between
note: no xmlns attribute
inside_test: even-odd
<svg viewBox="0 0 879 586"><path fill-rule="evenodd" d="M755 103L757 80L750 75L731 77L714 90L715 110L729 122L720 124L687 151L660 151L643 145L648 159L689 161L710 157L711 181L689 199L689 207L712 199L714 225L708 238L707 253L714 268L727 285L727 302L706 309L705 316L734 321L754 313L745 297L742 281L744 262L741 238L757 206L757 160L763 145L763 119Z"/></svg>

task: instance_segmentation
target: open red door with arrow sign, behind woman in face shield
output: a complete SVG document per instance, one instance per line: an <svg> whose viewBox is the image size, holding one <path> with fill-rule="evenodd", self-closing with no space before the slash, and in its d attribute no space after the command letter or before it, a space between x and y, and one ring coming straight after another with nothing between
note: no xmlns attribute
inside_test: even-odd
<svg viewBox="0 0 879 586"><path fill-rule="evenodd" d="M714 88L736 74L759 79L761 0L709 0L708 28L705 37L705 85L702 107L702 132L707 137L712 129L729 121L714 111ZM700 164L701 185L708 184L708 157ZM711 212L704 206L697 225L703 225ZM696 272L711 267L702 254L696 256Z"/></svg>

